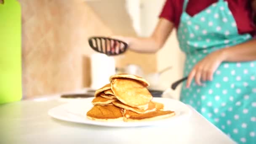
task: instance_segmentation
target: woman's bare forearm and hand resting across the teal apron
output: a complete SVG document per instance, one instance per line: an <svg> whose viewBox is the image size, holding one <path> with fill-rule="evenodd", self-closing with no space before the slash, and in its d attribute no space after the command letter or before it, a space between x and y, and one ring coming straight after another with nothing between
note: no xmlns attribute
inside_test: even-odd
<svg viewBox="0 0 256 144"><path fill-rule="evenodd" d="M190 86L192 79L198 85L202 85L201 80L213 80L213 73L223 61L254 61L256 60L256 39L235 45L229 48L220 49L205 56L199 61L189 73L187 79L187 88Z"/></svg>

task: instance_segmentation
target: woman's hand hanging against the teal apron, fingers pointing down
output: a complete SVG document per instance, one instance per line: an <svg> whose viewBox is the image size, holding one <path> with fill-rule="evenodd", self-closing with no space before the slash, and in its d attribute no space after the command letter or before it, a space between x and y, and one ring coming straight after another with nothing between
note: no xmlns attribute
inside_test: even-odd
<svg viewBox="0 0 256 144"><path fill-rule="evenodd" d="M224 59L223 50L217 50L199 61L188 75L187 88L189 88L193 78L195 78L197 85L202 85L201 80L213 80L213 73Z"/></svg>

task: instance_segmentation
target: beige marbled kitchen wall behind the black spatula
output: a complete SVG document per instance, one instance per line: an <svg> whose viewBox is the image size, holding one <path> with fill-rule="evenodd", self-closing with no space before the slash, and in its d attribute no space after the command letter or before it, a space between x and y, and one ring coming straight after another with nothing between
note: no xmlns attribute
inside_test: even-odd
<svg viewBox="0 0 256 144"><path fill-rule="evenodd" d="M23 95L32 98L90 86L87 43L91 35L114 35L85 0L19 0L22 12ZM156 55L128 52L118 67L156 71Z"/></svg>

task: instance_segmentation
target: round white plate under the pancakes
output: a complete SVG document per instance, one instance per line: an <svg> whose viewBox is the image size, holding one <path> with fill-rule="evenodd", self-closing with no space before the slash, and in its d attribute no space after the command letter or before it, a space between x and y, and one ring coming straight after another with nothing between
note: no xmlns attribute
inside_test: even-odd
<svg viewBox="0 0 256 144"><path fill-rule="evenodd" d="M84 123L88 125L102 125L110 127L136 127L148 125L177 124L181 120L186 120L192 114L191 109L181 101L168 98L153 98L153 101L160 102L165 105L164 110L171 110L176 113L175 116L163 120L147 121L147 122L101 122L93 121L86 117L86 113L93 107L91 101L93 98L80 99L67 104L54 107L48 111L51 117L59 120L65 120L74 123Z"/></svg>

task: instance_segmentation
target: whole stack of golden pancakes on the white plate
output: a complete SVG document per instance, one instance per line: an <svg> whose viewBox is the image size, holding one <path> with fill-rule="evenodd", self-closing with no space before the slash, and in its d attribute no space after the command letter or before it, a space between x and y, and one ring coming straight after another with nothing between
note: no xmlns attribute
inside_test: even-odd
<svg viewBox="0 0 256 144"><path fill-rule="evenodd" d="M128 74L113 75L110 83L95 92L93 108L87 112L91 120L149 121L172 117L175 112L163 111L164 105L152 101L141 77Z"/></svg>

